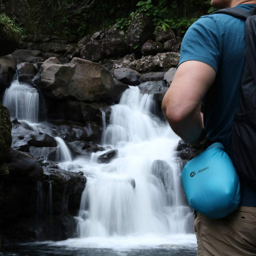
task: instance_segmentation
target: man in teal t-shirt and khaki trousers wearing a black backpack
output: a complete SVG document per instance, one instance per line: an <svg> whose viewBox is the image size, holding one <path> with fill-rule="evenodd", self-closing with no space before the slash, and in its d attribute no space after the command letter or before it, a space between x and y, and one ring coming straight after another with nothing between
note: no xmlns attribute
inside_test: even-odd
<svg viewBox="0 0 256 256"><path fill-rule="evenodd" d="M256 1L211 0L211 5L249 11ZM180 64L163 99L163 111L174 132L190 144L206 136L206 147L221 142L230 152L244 65L244 20L213 14L195 22L184 37ZM196 213L194 228L199 256L255 256L256 193L241 181L241 206L222 219Z"/></svg>

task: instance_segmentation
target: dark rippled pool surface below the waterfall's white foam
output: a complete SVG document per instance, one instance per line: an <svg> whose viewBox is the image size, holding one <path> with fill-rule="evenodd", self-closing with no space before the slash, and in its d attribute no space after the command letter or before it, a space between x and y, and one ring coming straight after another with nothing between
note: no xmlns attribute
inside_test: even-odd
<svg viewBox="0 0 256 256"><path fill-rule="evenodd" d="M116 251L103 248L69 248L46 244L9 244L0 250L0 256L196 256L195 248L150 248Z"/></svg>

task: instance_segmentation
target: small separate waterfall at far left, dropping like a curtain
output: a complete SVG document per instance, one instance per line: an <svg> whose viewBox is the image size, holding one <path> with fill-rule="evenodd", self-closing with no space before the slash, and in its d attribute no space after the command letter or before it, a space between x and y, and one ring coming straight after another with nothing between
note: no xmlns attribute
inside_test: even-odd
<svg viewBox="0 0 256 256"><path fill-rule="evenodd" d="M39 93L31 85L19 83L17 76L4 93L3 105L19 121L37 123L39 120Z"/></svg>

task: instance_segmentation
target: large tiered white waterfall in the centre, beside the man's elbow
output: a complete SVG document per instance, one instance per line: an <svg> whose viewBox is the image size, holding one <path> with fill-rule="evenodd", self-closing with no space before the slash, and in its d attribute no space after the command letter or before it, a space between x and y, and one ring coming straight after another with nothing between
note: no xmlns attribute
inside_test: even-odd
<svg viewBox="0 0 256 256"><path fill-rule="evenodd" d="M117 149L116 158L99 164L97 157L104 152L97 152L90 162L74 160L87 176L78 217L80 239L191 232L193 213L180 179L183 162L175 152L179 138L152 113L152 97L131 87L112 107L102 144ZM77 245L86 240L79 241Z"/></svg>

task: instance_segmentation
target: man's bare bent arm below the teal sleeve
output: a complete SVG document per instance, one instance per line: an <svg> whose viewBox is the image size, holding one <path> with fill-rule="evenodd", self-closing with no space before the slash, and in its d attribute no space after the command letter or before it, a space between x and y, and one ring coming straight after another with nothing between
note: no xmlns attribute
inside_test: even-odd
<svg viewBox="0 0 256 256"><path fill-rule="evenodd" d="M180 64L163 98L162 108L173 131L189 144L203 139L200 114L202 101L215 80L216 72L201 61Z"/></svg>

